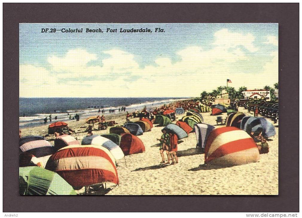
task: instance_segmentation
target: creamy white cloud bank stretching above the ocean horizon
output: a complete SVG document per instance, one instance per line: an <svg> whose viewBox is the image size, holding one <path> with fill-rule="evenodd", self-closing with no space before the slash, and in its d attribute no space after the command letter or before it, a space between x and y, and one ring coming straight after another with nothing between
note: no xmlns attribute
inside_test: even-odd
<svg viewBox="0 0 302 218"><path fill-rule="evenodd" d="M98 54L85 50L69 50L63 58L52 56L48 59L57 72L56 78L75 78L81 81L66 81L58 84L56 79L51 85L45 84L29 92L20 88L20 96L70 96L70 97L138 97L138 96L199 96L201 91L211 91L218 86L226 85L226 79L232 80L236 89L241 86L262 88L278 81L278 52L271 54L273 59L265 64L262 72L254 74L240 72L238 61L249 61L249 56L242 47L250 52L254 47L252 34L232 33L226 29L214 34L214 47L204 50L200 46L191 46L177 52L180 61L172 64L170 58L157 58L156 65L140 68L134 55L119 49L103 51L110 57L103 59L102 66L88 66L89 62L99 60ZM251 63L253 64L253 63ZM31 77L38 74L41 80L33 84L41 84L50 74L44 68L30 65L20 66L23 76L31 72ZM21 72L21 70L20 70ZM21 73L20 73L21 75ZM115 80L99 78L117 76ZM101 76L101 77L99 77ZM135 81L125 81L131 76L138 76ZM95 77L95 80L83 80ZM46 79L47 80L47 79ZM83 81L82 81L83 80ZM21 81L20 87L25 83Z"/></svg>

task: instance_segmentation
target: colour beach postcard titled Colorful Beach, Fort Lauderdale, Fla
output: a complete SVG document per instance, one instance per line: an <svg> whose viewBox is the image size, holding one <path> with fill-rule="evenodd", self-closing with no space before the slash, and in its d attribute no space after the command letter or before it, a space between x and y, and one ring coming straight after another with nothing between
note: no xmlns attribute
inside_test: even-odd
<svg viewBox="0 0 302 218"><path fill-rule="evenodd" d="M278 24L19 24L20 195L278 195Z"/></svg>

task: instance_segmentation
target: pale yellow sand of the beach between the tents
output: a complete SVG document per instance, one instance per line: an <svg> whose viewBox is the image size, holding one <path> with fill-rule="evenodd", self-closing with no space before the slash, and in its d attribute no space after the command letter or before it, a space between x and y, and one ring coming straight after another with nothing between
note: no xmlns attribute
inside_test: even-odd
<svg viewBox="0 0 302 218"><path fill-rule="evenodd" d="M239 112L247 110L239 107ZM106 121L115 120L118 125L126 121L126 112L119 115L106 115ZM178 115L178 119L183 115ZM217 116L210 112L202 113L204 123L216 125ZM223 118L226 114L222 115ZM135 122L138 118L132 118ZM176 121L175 121L176 122ZM173 122L173 123L175 123ZM270 120L271 122L271 120ZM68 126L76 131L73 134L81 140L88 124L85 120L71 120ZM48 124L49 125L49 124ZM22 129L22 135L47 134L48 125ZM196 149L195 133L178 144L178 164L159 165L161 157L156 138L161 136L162 127L153 127L151 131L138 136L144 143L146 151L126 156L119 160L117 172L120 184L109 191L108 195L277 195L278 194L278 124L276 135L270 138L269 153L261 154L258 163L250 163L228 168L204 166L204 154ZM97 124L95 124L97 128ZM109 128L94 131L94 134L109 133ZM46 137L47 140L54 137ZM53 143L53 141L50 141ZM166 156L165 156L166 158Z"/></svg>

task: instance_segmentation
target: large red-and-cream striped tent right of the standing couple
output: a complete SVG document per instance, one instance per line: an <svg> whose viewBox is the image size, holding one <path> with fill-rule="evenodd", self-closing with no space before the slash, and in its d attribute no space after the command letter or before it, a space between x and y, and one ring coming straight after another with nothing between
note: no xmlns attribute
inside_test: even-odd
<svg viewBox="0 0 302 218"><path fill-rule="evenodd" d="M205 164L235 166L259 161L259 150L245 131L236 127L216 128L205 145Z"/></svg>

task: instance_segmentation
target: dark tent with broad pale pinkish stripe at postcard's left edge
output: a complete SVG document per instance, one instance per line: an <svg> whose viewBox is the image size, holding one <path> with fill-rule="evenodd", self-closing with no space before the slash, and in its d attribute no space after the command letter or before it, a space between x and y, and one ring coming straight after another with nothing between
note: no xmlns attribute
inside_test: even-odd
<svg viewBox="0 0 302 218"><path fill-rule="evenodd" d="M54 153L53 145L40 136L25 136L19 140L21 152L27 152L35 157L43 157Z"/></svg>

